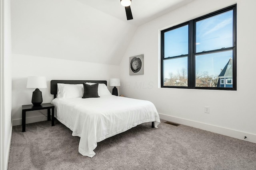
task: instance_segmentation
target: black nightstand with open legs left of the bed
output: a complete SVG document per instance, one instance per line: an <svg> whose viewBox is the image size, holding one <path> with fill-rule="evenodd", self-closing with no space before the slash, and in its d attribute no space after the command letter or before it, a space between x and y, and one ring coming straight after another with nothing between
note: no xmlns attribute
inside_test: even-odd
<svg viewBox="0 0 256 170"><path fill-rule="evenodd" d="M22 105L22 132L25 132L26 128L26 111L33 111L33 110L43 110L47 109L47 120L50 121L50 109L52 109L52 126L54 126L54 105L50 103L44 103L40 106L34 106L32 104L30 105Z"/></svg>

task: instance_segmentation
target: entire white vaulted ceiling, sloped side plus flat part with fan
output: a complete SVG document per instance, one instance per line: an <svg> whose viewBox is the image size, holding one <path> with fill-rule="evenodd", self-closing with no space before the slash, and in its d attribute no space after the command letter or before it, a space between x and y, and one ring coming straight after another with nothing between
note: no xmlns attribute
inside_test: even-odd
<svg viewBox="0 0 256 170"><path fill-rule="evenodd" d="M119 65L136 28L193 0L12 0L12 52Z"/></svg>

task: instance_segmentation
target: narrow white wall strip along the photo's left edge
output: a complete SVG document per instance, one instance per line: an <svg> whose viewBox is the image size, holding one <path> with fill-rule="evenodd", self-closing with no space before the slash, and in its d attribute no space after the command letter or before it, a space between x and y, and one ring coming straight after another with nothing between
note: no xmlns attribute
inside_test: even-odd
<svg viewBox="0 0 256 170"><path fill-rule="evenodd" d="M4 6L2 6L4 5ZM10 0L1 1L1 170L7 170L12 135Z"/></svg>

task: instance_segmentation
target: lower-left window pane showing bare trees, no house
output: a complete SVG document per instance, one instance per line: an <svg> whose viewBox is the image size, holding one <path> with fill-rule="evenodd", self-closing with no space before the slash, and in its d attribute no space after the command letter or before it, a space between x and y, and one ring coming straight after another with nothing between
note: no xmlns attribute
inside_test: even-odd
<svg viewBox="0 0 256 170"><path fill-rule="evenodd" d="M164 86L188 86L188 57L164 60Z"/></svg>

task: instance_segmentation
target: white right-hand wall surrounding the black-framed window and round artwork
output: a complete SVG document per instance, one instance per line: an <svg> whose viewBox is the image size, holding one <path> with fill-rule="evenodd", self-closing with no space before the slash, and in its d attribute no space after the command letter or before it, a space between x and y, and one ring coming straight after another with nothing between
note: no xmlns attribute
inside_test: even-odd
<svg viewBox="0 0 256 170"><path fill-rule="evenodd" d="M160 30L232 4L236 0L195 0L138 27L120 63L120 94L150 100L163 119L256 143L255 0L237 0L237 91L159 88ZM129 76L129 57L140 54L144 75Z"/></svg>

